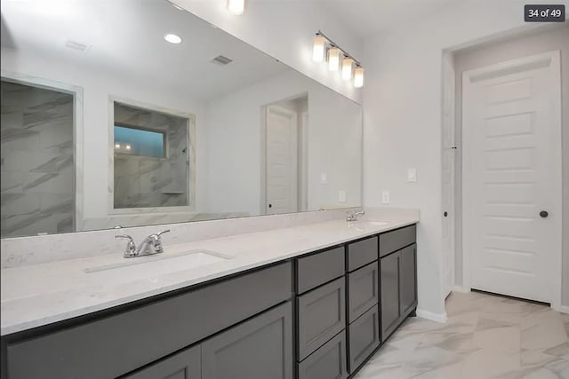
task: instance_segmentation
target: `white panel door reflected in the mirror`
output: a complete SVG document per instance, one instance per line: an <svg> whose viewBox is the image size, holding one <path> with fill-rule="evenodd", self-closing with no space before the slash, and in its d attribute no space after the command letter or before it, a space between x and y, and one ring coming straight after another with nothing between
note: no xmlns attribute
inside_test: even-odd
<svg viewBox="0 0 569 379"><path fill-rule="evenodd" d="M298 116L283 107L267 107L266 214L298 211Z"/></svg>

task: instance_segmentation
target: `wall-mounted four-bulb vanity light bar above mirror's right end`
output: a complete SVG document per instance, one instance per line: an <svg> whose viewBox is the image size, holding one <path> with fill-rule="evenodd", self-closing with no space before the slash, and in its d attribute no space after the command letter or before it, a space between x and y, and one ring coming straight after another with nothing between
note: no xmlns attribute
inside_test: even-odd
<svg viewBox="0 0 569 379"><path fill-rule="evenodd" d="M364 67L362 64L342 49L338 43L333 42L318 30L313 40L312 60L322 62L325 58L329 71L341 69L342 79L347 81L354 79L354 87L356 88L364 86Z"/></svg>

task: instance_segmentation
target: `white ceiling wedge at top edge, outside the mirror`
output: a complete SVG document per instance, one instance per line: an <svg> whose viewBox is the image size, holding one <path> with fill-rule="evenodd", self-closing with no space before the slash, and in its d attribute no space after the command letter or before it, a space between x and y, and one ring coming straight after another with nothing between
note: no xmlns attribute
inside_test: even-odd
<svg viewBox="0 0 569 379"><path fill-rule="evenodd" d="M304 0L321 4L362 39L453 6L461 0Z"/></svg>

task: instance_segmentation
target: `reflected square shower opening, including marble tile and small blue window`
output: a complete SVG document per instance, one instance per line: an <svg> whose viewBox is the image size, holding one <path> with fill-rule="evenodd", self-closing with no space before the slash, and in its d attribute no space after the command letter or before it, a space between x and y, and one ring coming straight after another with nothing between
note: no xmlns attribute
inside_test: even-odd
<svg viewBox="0 0 569 379"><path fill-rule="evenodd" d="M115 102L115 209L189 204L188 118Z"/></svg>

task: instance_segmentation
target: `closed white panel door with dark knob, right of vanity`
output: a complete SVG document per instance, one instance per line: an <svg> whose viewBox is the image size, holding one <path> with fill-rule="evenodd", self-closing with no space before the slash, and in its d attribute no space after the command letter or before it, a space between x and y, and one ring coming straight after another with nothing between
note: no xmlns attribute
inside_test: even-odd
<svg viewBox="0 0 569 379"><path fill-rule="evenodd" d="M470 287L546 303L560 287L553 279L561 257L554 58L542 54L463 76Z"/></svg>

